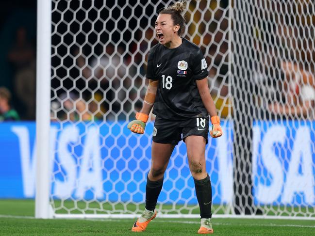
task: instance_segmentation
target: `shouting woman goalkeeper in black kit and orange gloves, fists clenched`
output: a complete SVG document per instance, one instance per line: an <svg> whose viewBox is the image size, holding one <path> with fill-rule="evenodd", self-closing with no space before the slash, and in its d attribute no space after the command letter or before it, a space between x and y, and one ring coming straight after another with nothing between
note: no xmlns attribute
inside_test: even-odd
<svg viewBox="0 0 315 236"><path fill-rule="evenodd" d="M146 208L133 224L133 232L145 231L156 216L156 202L163 185L164 172L179 141L187 146L189 168L194 177L200 208L199 234L212 234L211 182L206 172L205 145L210 135L222 135L220 119L208 88L207 63L198 46L180 37L184 31L185 1L178 1L159 13L155 22L159 44L148 56L146 77L149 87L141 112L128 128L143 134L153 107L156 120L152 138L152 163L146 185Z"/></svg>

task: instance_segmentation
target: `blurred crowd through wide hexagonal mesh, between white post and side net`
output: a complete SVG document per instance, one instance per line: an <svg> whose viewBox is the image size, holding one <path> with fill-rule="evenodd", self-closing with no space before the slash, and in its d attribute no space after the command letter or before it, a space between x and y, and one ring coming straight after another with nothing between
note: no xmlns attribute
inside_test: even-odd
<svg viewBox="0 0 315 236"><path fill-rule="evenodd" d="M52 36L53 118L134 117L146 92L146 56L149 48L158 43L154 33L156 12L167 2L170 1L139 0L136 7L126 1L106 1L106 7L102 1L92 4L83 1L80 7L78 1L54 4L57 10L52 13L56 32ZM220 90L222 96L228 94L227 6L227 0L211 1L210 8L209 1L191 1L186 14L185 37L201 46L212 65L209 77L212 90L215 94ZM223 101L228 102L221 99L221 104Z"/></svg>

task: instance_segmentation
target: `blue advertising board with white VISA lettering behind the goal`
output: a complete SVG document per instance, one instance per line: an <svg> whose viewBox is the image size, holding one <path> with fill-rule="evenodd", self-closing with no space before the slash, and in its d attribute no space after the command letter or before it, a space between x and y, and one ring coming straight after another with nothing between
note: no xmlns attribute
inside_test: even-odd
<svg viewBox="0 0 315 236"><path fill-rule="evenodd" d="M144 202L153 123L142 136L132 134L126 125L52 123L51 196ZM209 138L206 147L214 204L231 203L233 198L232 126L228 121L222 126L224 135ZM315 205L314 127L314 122L254 123L256 204ZM33 122L0 124L0 198L34 197L35 145ZM172 154L159 202L197 203L183 142Z"/></svg>

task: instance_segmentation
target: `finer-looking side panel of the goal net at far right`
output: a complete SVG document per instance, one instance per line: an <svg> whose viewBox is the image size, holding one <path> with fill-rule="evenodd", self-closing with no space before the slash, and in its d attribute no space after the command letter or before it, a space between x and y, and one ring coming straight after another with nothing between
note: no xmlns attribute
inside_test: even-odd
<svg viewBox="0 0 315 236"><path fill-rule="evenodd" d="M234 1L236 214L314 217L313 1Z"/></svg>

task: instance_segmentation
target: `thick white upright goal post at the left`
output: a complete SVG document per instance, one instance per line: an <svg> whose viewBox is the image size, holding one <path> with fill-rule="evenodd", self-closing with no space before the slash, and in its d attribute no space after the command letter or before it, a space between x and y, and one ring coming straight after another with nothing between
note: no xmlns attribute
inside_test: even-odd
<svg viewBox="0 0 315 236"><path fill-rule="evenodd" d="M35 217L51 218L50 211L50 79L51 1L37 0L36 50L36 194Z"/></svg>

